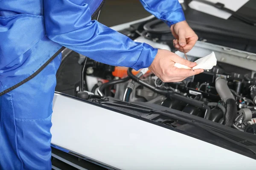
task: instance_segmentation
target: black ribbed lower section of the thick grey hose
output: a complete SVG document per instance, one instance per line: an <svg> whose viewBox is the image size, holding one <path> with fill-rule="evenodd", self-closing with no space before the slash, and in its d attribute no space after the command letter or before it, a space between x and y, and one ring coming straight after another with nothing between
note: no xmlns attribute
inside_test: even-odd
<svg viewBox="0 0 256 170"><path fill-rule="evenodd" d="M234 99L226 100L227 111L224 119L224 125L231 127L237 115L237 106Z"/></svg>

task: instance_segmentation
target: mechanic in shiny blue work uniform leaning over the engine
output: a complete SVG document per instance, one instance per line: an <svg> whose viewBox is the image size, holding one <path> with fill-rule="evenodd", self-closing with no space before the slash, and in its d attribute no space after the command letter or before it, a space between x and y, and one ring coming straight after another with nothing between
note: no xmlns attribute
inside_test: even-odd
<svg viewBox="0 0 256 170"><path fill-rule="evenodd" d="M186 52L198 40L178 0L140 0ZM63 47L96 61L149 68L164 82L203 70L176 54L134 42L92 20L102 0L0 0L0 169L50 170L52 100ZM88 139L90 140L90 139Z"/></svg>

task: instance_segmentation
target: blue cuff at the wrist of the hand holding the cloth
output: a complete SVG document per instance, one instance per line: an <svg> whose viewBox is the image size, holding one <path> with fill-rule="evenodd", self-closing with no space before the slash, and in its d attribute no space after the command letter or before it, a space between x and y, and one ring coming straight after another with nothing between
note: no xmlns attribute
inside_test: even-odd
<svg viewBox="0 0 256 170"><path fill-rule="evenodd" d="M157 51L157 48L153 48L152 46L143 43L143 50L141 51L137 62L131 68L136 71L141 68L148 68L156 57Z"/></svg>

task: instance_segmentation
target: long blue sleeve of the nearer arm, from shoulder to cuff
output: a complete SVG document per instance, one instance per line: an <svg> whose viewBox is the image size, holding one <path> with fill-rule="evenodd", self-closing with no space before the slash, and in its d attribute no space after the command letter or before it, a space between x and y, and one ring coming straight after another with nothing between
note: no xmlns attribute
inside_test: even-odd
<svg viewBox="0 0 256 170"><path fill-rule="evenodd" d="M47 37L64 47L108 65L147 68L157 54L148 44L91 20L85 0L44 0Z"/></svg>

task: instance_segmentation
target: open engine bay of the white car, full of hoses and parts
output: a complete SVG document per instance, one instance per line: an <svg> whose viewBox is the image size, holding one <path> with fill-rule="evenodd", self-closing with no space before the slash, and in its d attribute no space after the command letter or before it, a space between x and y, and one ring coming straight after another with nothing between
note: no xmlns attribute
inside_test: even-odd
<svg viewBox="0 0 256 170"><path fill-rule="evenodd" d="M159 21L152 19L136 23L119 32L134 41L145 42L184 57L173 47L170 32L165 29L152 31L149 29L149 23L157 27L155 24ZM212 35L208 37L210 45L211 37ZM77 66L81 66L78 72L82 78L81 82L75 81L74 96L77 96L79 91L87 91L92 95L89 100L93 102L102 100L104 103L108 99L114 99L117 103L122 101L128 104L160 106L162 110L174 109L184 115L197 116L236 131L256 134L256 68L253 64L256 54L227 46L221 46L224 50L220 51L218 44L205 50L205 47L202 48L207 41L204 38L199 36L199 47L195 45L189 60L195 61L214 51L217 65L182 82L162 82L148 68L134 71L131 68L105 65L72 51L70 56L78 58ZM59 72L61 73L61 69ZM129 109L125 112L137 114ZM142 115L138 113L137 116ZM168 117L149 117L147 119L171 127L183 125Z"/></svg>

